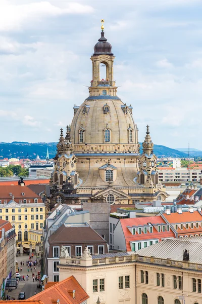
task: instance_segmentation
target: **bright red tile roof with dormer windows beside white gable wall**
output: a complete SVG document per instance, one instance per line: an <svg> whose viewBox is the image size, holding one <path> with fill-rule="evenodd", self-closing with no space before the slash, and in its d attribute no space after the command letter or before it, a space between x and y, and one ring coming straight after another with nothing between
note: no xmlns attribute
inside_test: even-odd
<svg viewBox="0 0 202 304"><path fill-rule="evenodd" d="M126 241L126 251L131 251L130 242L135 242L139 240L152 240L152 239L165 239L165 238L174 238L175 234L172 230L165 231L165 232L158 232L155 227L153 226L153 233L149 233L147 231L146 234L143 232L141 234L132 235L131 232L128 230L128 226L138 226L138 225L147 225L148 223L151 224L165 224L165 220L160 216L147 216L147 217L136 217L136 218L123 218L120 219L120 223L122 226L123 234Z"/></svg>

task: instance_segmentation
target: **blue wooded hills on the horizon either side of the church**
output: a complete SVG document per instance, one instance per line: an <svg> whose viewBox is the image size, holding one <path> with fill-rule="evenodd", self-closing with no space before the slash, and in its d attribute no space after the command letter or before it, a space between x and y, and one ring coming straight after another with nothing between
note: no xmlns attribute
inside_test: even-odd
<svg viewBox="0 0 202 304"><path fill-rule="evenodd" d="M48 147L49 157L53 158L56 155L57 142L0 142L0 159L3 158L29 158L35 159L38 155L41 159L45 159ZM154 153L157 157L187 157L186 153L171 149L163 145L154 145ZM202 152L201 152L202 156Z"/></svg>

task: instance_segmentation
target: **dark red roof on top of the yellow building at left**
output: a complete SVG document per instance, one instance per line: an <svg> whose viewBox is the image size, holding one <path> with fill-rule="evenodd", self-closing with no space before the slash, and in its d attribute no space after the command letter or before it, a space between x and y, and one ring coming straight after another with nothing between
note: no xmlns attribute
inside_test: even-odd
<svg viewBox="0 0 202 304"><path fill-rule="evenodd" d="M20 200L30 200L30 203L34 203L34 199L38 199L38 203L42 203L42 199L40 196L35 194L29 187L27 186L2 186L0 185L0 200L2 200L2 203L4 203L4 200L7 200L7 203L9 203L10 200L12 200L12 196L10 196L10 193L12 193L12 196L14 196L14 200L16 203L19 203ZM24 193L25 195L22 195Z"/></svg>

